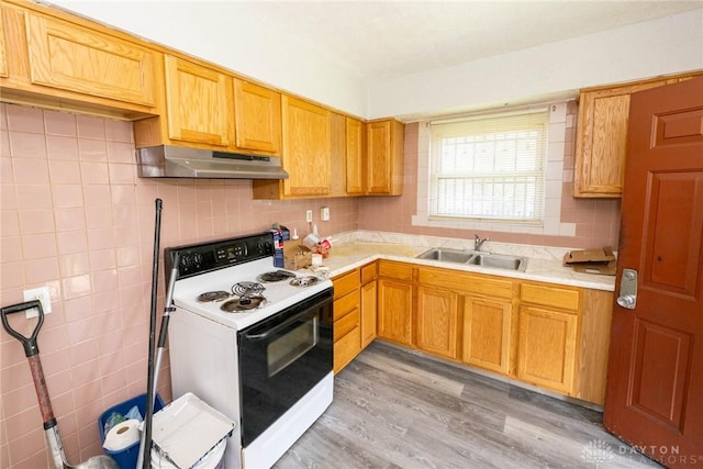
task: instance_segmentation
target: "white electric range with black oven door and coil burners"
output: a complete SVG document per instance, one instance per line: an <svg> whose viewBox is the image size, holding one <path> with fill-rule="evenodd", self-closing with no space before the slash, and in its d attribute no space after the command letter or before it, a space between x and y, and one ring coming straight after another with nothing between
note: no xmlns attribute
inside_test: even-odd
<svg viewBox="0 0 703 469"><path fill-rule="evenodd" d="M226 468L271 467L332 403L332 281L274 267L271 233L165 249L174 398L234 422Z"/></svg>

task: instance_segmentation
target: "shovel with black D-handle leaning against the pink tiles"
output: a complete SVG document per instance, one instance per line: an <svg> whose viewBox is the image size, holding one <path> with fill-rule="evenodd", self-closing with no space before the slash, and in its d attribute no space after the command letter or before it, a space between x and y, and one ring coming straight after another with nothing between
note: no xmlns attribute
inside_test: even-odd
<svg viewBox="0 0 703 469"><path fill-rule="evenodd" d="M36 323L32 335L30 337L25 337L10 326L10 323L8 322L8 314L20 313L22 311L31 310L32 308L36 308L40 312L38 322ZM36 389L36 398L40 401L40 411L42 412L42 420L44 421L44 434L52 451L52 458L54 459L54 466L56 469L120 469L118 462L110 456L93 456L87 461L75 466L66 461L64 444L62 443L62 437L58 434L58 424L54 416L52 402L48 399L48 389L46 388L46 381L44 380L44 370L42 369L42 361L40 360L40 348L36 345L36 336L40 334L42 324L44 324L44 311L42 310L42 303L38 300L33 300L2 308L0 309L0 317L2 319L2 327L4 327L8 334L22 343L22 346L24 347L24 355L26 355L26 358L30 361L30 370L32 371L32 379L34 380L34 388Z"/></svg>

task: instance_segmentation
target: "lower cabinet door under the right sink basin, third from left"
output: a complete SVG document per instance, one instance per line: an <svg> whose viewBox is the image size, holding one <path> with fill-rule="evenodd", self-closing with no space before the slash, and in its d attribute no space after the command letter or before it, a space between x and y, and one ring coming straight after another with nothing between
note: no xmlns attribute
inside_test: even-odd
<svg viewBox="0 0 703 469"><path fill-rule="evenodd" d="M511 315L510 300L465 297L464 361L507 375L510 372Z"/></svg>

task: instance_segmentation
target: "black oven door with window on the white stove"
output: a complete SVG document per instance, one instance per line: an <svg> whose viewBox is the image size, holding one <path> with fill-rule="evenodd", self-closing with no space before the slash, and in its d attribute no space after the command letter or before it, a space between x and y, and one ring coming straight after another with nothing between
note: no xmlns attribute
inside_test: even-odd
<svg viewBox="0 0 703 469"><path fill-rule="evenodd" d="M238 333L244 447L332 371L332 291Z"/></svg>

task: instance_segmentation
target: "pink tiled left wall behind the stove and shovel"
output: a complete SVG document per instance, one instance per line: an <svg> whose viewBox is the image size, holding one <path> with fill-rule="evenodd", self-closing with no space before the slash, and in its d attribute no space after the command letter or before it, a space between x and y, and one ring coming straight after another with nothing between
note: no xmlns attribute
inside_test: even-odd
<svg viewBox="0 0 703 469"><path fill-rule="evenodd" d="M100 414L146 389L156 198L164 201L161 247L274 222L304 236L305 210L317 222L322 206L331 221L319 222L321 234L358 225L355 198L258 201L249 180L137 178L129 122L2 103L0 165L0 305L49 287L53 312L38 345L70 461L101 454ZM0 467L48 467L22 346L2 331L0 353ZM168 375L165 360L166 400Z"/></svg>

